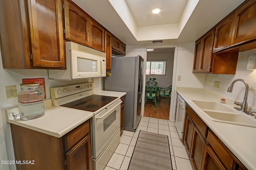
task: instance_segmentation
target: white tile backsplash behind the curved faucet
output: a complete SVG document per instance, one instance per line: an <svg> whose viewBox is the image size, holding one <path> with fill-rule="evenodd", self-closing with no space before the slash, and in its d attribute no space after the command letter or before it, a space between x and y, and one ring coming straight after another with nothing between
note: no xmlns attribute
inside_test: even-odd
<svg viewBox="0 0 256 170"><path fill-rule="evenodd" d="M227 92L231 82L235 79L244 79L249 84L248 110L256 111L256 70L246 70L248 57L250 54L256 54L256 49L239 53L236 74L206 74L205 88L214 92L221 93L227 102L242 102L245 94L245 85L243 82L236 82L233 91ZM214 88L214 81L220 82L219 88Z"/></svg>

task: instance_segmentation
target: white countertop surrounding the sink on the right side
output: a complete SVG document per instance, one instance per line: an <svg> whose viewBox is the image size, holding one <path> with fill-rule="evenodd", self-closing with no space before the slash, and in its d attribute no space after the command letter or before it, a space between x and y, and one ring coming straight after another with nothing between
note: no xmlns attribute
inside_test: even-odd
<svg viewBox="0 0 256 170"><path fill-rule="evenodd" d="M212 121L202 109L191 101L220 102L220 98L224 98L224 96L200 88L177 87L176 91L246 168L249 170L256 169L256 128ZM229 100L224 105L231 108L236 106Z"/></svg>

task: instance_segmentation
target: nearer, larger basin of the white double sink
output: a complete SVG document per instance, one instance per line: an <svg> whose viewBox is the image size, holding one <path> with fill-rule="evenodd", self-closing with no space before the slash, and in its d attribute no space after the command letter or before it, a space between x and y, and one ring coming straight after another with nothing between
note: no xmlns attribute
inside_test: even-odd
<svg viewBox="0 0 256 170"><path fill-rule="evenodd" d="M243 113L228 113L219 111L204 110L204 112L210 116L212 121L218 121L222 123L230 123L235 125L243 125L249 127L256 127L256 119L254 117Z"/></svg>

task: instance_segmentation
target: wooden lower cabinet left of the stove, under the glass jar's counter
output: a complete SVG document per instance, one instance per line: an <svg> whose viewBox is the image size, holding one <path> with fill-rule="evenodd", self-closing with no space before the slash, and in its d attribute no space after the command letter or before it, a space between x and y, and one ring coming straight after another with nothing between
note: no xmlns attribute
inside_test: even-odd
<svg viewBox="0 0 256 170"><path fill-rule="evenodd" d="M17 170L92 170L90 120L61 138L10 124Z"/></svg>

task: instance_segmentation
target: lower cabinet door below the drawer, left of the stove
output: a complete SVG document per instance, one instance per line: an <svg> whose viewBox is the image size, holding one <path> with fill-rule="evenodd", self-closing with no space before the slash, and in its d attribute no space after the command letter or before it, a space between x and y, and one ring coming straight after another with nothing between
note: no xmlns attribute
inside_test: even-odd
<svg viewBox="0 0 256 170"><path fill-rule="evenodd" d="M67 170L92 170L91 136L87 135L66 153Z"/></svg>

